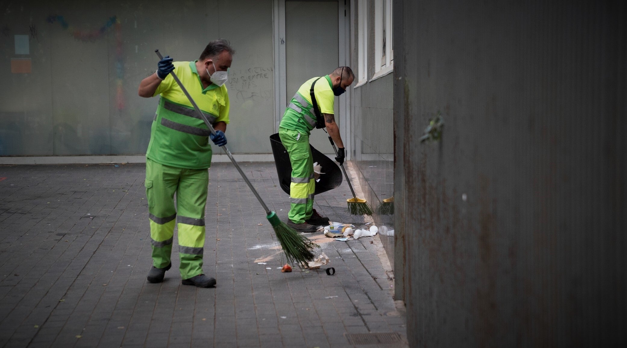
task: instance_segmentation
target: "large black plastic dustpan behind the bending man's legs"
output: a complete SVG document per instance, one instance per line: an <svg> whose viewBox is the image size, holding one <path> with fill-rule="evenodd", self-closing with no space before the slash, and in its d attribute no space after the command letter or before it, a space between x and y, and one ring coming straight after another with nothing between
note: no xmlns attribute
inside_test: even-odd
<svg viewBox="0 0 627 348"><path fill-rule="evenodd" d="M292 182L292 165L290 164L290 156L285 150L285 146L281 142L278 133L270 136L270 144L272 146L272 154L275 157L275 165L277 166L278 181L285 193L290 194L290 183ZM315 183L314 195L332 190L342 183L342 171L340 167L324 153L312 148L312 156L314 162L318 162L322 166L322 175L320 181Z"/></svg>

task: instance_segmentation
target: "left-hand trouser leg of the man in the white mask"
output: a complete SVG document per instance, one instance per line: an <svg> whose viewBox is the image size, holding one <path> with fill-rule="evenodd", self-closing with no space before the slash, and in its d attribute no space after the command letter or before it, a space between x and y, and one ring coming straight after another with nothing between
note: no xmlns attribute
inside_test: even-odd
<svg viewBox="0 0 627 348"><path fill-rule="evenodd" d="M174 192L179 181L179 168L164 166L146 159L146 197L150 219L152 265L162 269L170 264L172 236L176 223Z"/></svg>

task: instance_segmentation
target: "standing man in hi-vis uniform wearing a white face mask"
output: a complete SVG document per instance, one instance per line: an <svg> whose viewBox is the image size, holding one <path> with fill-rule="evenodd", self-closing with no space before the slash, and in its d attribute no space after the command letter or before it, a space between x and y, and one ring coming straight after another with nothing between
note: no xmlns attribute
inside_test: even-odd
<svg viewBox="0 0 627 348"><path fill-rule="evenodd" d="M224 39L211 41L196 61L159 61L157 71L139 84L139 96L159 95L146 151L146 197L150 218L152 267L148 281L162 282L170 269L174 225L178 222L182 284L213 287L203 274L204 208L211 166L211 143L226 144L229 95L224 83L233 60ZM211 135L201 117L172 78L176 73L216 130ZM176 193L176 207L174 194Z"/></svg>

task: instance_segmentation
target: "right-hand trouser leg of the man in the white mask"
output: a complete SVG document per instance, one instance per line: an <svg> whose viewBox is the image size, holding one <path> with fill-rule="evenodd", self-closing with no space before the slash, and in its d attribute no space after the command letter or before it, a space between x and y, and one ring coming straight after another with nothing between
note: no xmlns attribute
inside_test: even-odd
<svg viewBox="0 0 627 348"><path fill-rule="evenodd" d="M204 207L209 175L206 169L183 169L176 193L181 279L203 273Z"/></svg>

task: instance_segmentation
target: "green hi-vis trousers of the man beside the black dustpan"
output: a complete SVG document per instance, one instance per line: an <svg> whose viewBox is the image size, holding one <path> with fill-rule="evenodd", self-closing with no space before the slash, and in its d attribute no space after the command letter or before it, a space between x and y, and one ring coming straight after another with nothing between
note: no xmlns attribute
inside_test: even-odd
<svg viewBox="0 0 627 348"><path fill-rule="evenodd" d="M309 136L285 128L279 128L279 136L292 164L288 217L293 223L303 223L311 217L314 207L314 161L309 147Z"/></svg>

